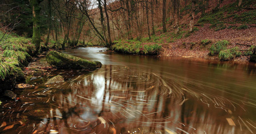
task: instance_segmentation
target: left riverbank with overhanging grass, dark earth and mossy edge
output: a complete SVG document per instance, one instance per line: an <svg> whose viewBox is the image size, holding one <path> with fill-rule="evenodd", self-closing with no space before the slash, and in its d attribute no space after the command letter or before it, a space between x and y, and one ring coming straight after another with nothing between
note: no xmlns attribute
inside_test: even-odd
<svg viewBox="0 0 256 134"><path fill-rule="evenodd" d="M35 45L31 43L31 38L20 37L14 33L3 34L1 31L0 36L3 37L0 41L0 93L13 90L17 84L25 83L25 73L44 74L44 69L27 70L27 66L32 60L46 55L50 50L63 49L56 41L50 41L48 46L41 42L39 52L35 54ZM70 48L76 47L66 44L64 49Z"/></svg>

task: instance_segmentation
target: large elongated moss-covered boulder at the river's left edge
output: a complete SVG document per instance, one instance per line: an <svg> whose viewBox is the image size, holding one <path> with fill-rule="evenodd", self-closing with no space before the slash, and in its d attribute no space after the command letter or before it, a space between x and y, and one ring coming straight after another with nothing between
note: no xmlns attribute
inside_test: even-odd
<svg viewBox="0 0 256 134"><path fill-rule="evenodd" d="M66 69L91 69L100 68L102 65L98 61L89 61L58 51L50 51L46 56L46 60L52 66Z"/></svg>

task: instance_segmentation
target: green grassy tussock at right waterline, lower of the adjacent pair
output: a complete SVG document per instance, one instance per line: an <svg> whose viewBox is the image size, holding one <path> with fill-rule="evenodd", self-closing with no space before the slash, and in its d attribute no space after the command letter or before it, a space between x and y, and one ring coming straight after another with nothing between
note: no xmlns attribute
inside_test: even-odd
<svg viewBox="0 0 256 134"><path fill-rule="evenodd" d="M220 60L232 60L233 58L240 57L241 55L242 53L238 50L238 47L234 47L220 51L219 58Z"/></svg>

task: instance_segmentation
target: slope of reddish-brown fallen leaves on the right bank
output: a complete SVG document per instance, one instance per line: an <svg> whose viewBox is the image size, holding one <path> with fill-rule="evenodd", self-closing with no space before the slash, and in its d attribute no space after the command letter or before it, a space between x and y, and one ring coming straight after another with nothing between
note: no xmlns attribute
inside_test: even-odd
<svg viewBox="0 0 256 134"><path fill-rule="evenodd" d="M201 41L208 39L211 42L227 40L230 42L228 48L239 47L240 50L247 50L250 45L256 44L256 25L249 29L236 30L224 29L214 31L210 29L210 24L204 24L198 31L189 37L177 39L173 43L162 43L160 56L165 57L185 57L185 58L206 58L218 59L218 57L209 57L209 45L202 45ZM248 61L249 56L241 56L234 60Z"/></svg>

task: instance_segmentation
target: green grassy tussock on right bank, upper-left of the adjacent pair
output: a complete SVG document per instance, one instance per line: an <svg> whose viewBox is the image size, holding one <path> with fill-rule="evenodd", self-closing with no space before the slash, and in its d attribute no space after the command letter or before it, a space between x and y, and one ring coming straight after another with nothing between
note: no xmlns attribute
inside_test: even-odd
<svg viewBox="0 0 256 134"><path fill-rule="evenodd" d="M217 55L220 53L221 50L224 50L227 48L228 41L222 40L222 41L217 41L216 43L212 44L210 47L210 55Z"/></svg>

